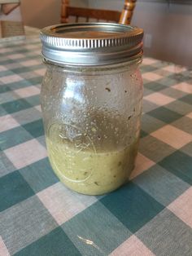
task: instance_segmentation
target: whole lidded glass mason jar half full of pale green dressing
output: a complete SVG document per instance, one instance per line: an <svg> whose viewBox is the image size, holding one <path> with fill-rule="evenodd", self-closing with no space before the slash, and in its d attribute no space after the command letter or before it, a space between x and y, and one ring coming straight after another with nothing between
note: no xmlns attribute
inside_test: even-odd
<svg viewBox="0 0 192 256"><path fill-rule="evenodd" d="M76 192L111 192L133 170L142 113L142 36L142 29L121 24L41 30L48 156L55 174Z"/></svg>

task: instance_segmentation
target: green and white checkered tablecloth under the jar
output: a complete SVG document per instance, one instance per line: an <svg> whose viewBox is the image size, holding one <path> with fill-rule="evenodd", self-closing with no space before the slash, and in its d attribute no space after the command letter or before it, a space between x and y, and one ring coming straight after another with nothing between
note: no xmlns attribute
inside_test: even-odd
<svg viewBox="0 0 192 256"><path fill-rule="evenodd" d="M0 255L191 256L192 72L144 58L142 133L131 181L106 196L51 170L37 36L0 46Z"/></svg>

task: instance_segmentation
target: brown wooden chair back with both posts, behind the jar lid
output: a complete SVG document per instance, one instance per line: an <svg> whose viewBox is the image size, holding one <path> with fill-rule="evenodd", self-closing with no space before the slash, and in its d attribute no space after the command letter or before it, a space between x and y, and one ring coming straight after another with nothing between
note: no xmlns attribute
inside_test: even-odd
<svg viewBox="0 0 192 256"><path fill-rule="evenodd" d="M90 19L94 19L97 22L105 20L129 24L133 15L135 2L136 0L125 0L124 10L121 13L120 11L70 7L69 0L62 0L61 23L68 23L68 18L73 16L75 17L75 22L78 22L81 17L85 18L86 22L89 22ZM126 19L125 15L128 16L128 19Z"/></svg>

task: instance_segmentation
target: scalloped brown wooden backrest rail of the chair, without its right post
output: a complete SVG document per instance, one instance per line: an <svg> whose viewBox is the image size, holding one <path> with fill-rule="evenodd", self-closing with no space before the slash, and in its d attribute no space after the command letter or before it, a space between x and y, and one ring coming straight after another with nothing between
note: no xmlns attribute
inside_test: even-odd
<svg viewBox="0 0 192 256"><path fill-rule="evenodd" d="M120 20L120 11L81 8L81 7L70 7L69 0L62 0L61 9L61 22L68 23L70 16L75 17L75 22L79 21L79 18L85 18L88 22L90 19L94 19L97 22L100 20L113 21L118 23Z"/></svg>

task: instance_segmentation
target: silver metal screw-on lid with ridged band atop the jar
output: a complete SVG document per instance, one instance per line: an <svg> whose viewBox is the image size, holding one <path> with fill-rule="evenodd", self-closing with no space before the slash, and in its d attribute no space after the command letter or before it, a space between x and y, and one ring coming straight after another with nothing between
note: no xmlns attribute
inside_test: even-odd
<svg viewBox="0 0 192 256"><path fill-rule="evenodd" d="M42 55L58 64L103 65L142 55L143 30L123 24L59 24L41 30Z"/></svg>

